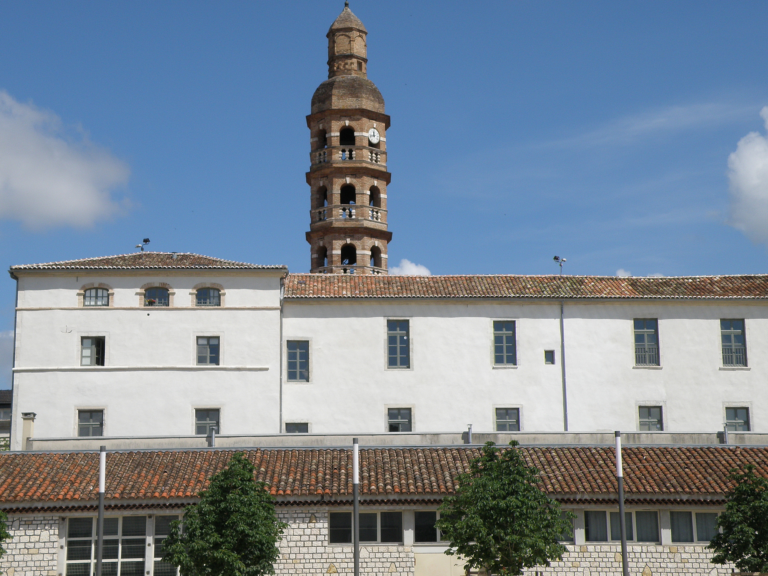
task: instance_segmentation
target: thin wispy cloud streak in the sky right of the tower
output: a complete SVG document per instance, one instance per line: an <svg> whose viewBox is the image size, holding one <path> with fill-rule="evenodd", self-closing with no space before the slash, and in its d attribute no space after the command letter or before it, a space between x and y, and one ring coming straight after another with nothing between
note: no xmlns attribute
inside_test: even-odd
<svg viewBox="0 0 768 576"><path fill-rule="evenodd" d="M561 147L591 147L608 144L632 144L644 137L662 132L691 130L726 124L746 117L754 111L752 106L733 104L703 103L687 106L668 106L617 118L594 130L548 143Z"/></svg>

